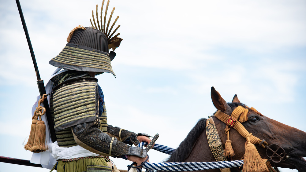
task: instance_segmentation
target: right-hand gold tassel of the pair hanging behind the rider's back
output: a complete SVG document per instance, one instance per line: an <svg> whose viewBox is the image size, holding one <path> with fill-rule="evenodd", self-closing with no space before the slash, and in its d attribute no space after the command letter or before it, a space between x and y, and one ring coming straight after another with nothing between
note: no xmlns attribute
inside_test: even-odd
<svg viewBox="0 0 306 172"><path fill-rule="evenodd" d="M43 121L37 121L34 147L32 152L39 153L45 152L46 150L46 125Z"/></svg>

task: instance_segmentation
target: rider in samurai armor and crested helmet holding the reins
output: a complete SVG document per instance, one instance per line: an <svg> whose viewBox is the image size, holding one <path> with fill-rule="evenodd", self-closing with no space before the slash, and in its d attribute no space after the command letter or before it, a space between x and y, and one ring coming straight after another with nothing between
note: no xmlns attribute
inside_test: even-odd
<svg viewBox="0 0 306 172"><path fill-rule="evenodd" d="M103 4L104 0L102 7ZM114 9L111 15L113 12ZM119 33L114 35L120 25L111 33L118 17L109 29L110 19L106 28L105 20L104 24L101 20L101 27L97 21L97 27L94 18L95 27L92 21L92 27L75 27L64 49L49 61L58 70L47 84L50 92L54 92L50 95L50 111L57 138L48 148L57 161L54 168L60 172L112 171L109 156L128 159L138 165L147 158L145 149L130 145L149 143L150 136L107 123L104 95L95 78L105 72L115 76L111 60L116 53L110 49L117 48L122 39Z"/></svg>

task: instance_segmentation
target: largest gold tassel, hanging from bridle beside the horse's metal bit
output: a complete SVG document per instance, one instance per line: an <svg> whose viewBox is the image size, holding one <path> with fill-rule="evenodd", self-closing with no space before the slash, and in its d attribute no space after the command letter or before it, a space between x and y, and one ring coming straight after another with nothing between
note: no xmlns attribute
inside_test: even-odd
<svg viewBox="0 0 306 172"><path fill-rule="evenodd" d="M251 135L252 133L247 137L248 144L245 148L242 172L268 172L267 165L260 157L255 145L250 141Z"/></svg>

